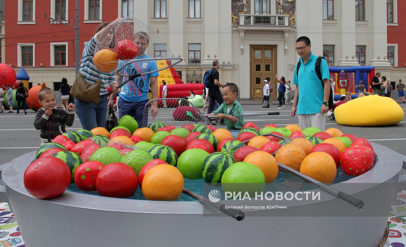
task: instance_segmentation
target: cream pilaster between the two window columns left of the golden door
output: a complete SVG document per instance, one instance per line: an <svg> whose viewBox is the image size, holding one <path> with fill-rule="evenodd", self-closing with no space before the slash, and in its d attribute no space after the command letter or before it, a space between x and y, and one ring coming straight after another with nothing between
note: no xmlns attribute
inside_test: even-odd
<svg viewBox="0 0 406 247"><path fill-rule="evenodd" d="M183 0L171 0L171 4L168 4L168 25L169 30L184 30L184 19L185 13L184 11L179 11L179 9L183 9L184 1ZM184 53L184 34L183 32L174 32L168 35L168 49L177 57L179 54L181 57L188 59L188 54ZM167 54L167 56L171 56L171 54ZM183 61L180 64L186 65Z"/></svg>

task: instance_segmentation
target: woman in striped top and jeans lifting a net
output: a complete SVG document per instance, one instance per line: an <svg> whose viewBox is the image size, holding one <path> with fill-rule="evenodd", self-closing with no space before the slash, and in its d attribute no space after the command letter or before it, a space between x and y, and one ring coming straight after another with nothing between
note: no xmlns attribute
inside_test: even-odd
<svg viewBox="0 0 406 247"><path fill-rule="evenodd" d="M104 22L96 29L93 38L84 45L82 59L80 60L79 73L88 83L95 83L101 80L99 103L89 103L80 99L75 99L76 113L80 119L83 129L91 130L96 127L104 127L107 116L107 85L114 93L119 93L116 76L113 73L104 73L97 70L93 63L96 45L100 42L110 42L110 49L114 50L116 44L113 42L112 26L118 21L118 18L112 23ZM110 30L109 30L110 29Z"/></svg>

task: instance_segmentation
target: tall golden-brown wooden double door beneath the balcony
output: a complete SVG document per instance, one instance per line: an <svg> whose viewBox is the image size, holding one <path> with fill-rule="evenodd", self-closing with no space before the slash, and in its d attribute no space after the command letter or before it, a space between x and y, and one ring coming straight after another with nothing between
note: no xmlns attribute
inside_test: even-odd
<svg viewBox="0 0 406 247"><path fill-rule="evenodd" d="M271 81L276 99L276 45L251 45L250 47L250 99L263 99L263 80Z"/></svg>

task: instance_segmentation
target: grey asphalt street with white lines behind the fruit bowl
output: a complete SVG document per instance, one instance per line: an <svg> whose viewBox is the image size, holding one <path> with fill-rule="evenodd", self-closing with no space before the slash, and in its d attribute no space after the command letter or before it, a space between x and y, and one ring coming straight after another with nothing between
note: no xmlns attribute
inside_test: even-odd
<svg viewBox="0 0 406 247"><path fill-rule="evenodd" d="M242 102L244 103L244 102ZM259 128L268 123L284 127L288 124L299 124L298 117L290 116L292 105L286 108L276 109L277 103L270 108L262 108L261 105L243 105L244 113L253 112L274 112L279 111L279 116L251 116L244 118L245 122L254 122ZM259 102L261 103L261 102ZM400 105L405 111L406 104ZM41 140L39 131L33 126L35 112L27 110L28 114L0 114L0 165L7 163L22 154L31 152L39 148ZM118 115L118 114L117 114ZM217 128L224 128L225 125L216 125ZM326 117L326 129L335 127L345 134L354 134L357 137L364 137L370 141L387 146L396 152L406 155L406 118L397 125L387 127L350 127L337 124ZM81 129L78 116L75 116L75 122L72 127L67 127L67 131L76 131Z"/></svg>

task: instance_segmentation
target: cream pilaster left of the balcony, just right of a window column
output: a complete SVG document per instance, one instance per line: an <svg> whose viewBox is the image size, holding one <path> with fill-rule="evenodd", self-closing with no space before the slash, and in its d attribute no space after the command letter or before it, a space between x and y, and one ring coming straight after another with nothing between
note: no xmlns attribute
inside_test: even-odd
<svg viewBox="0 0 406 247"><path fill-rule="evenodd" d="M226 15L225 11L229 11L231 9L231 2L230 8L222 9L221 15L225 15L230 17L230 15ZM220 20L220 4L217 0L205 0L204 4L204 30L205 32L205 40L204 40L204 49L202 49L201 57L204 57L201 61L202 65L212 65L213 60L219 60L219 20ZM227 12L228 13L228 12ZM231 19L231 17L229 18ZM224 40L222 40L224 42ZM203 48L203 47L202 47ZM210 57L207 57L207 54ZM214 57L214 54L217 54L217 57Z"/></svg>

